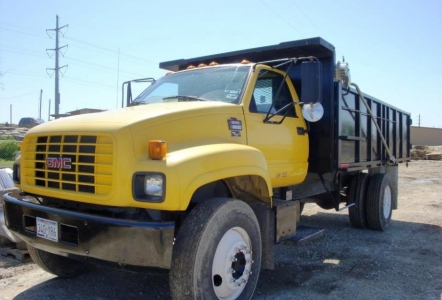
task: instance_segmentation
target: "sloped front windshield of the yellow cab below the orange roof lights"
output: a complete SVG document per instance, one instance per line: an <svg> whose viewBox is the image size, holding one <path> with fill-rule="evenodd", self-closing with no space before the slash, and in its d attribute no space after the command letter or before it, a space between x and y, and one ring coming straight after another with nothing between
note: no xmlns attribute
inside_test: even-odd
<svg viewBox="0 0 442 300"><path fill-rule="evenodd" d="M250 66L201 68L164 76L142 92L131 105L222 101L238 104Z"/></svg>

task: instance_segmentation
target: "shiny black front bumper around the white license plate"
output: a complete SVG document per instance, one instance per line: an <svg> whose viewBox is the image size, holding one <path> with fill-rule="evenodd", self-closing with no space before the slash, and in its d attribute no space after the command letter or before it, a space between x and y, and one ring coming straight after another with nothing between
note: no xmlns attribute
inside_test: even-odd
<svg viewBox="0 0 442 300"><path fill-rule="evenodd" d="M174 222L140 222L68 211L4 195L5 223L37 249L69 257L84 256L122 265L170 268ZM36 218L57 222L58 240L36 234Z"/></svg>

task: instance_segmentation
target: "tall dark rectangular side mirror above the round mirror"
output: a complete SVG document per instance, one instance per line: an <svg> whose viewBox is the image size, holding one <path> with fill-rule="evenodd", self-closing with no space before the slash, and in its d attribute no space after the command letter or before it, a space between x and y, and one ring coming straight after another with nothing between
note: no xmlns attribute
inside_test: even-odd
<svg viewBox="0 0 442 300"><path fill-rule="evenodd" d="M304 61L301 64L301 101L320 103L322 101L321 62Z"/></svg>

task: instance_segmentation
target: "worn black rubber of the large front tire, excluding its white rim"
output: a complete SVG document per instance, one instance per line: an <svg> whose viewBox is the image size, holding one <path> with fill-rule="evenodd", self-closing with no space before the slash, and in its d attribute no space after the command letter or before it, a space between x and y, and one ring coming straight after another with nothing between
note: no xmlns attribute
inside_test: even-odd
<svg viewBox="0 0 442 300"><path fill-rule="evenodd" d="M172 299L217 299L211 278L213 255L226 228L235 226L246 228L252 240L253 275L240 295L241 299L251 299L261 264L259 223L250 206L228 198L206 200L184 220L172 254L169 274Z"/></svg>

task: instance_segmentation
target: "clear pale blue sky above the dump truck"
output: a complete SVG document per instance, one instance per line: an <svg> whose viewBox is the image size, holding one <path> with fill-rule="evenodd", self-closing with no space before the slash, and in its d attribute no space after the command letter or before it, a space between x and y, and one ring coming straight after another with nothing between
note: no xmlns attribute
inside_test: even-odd
<svg viewBox="0 0 442 300"><path fill-rule="evenodd" d="M0 0L0 123L121 107L124 81L159 63L322 37L364 93L442 128L441 0ZM40 91L42 101L40 105Z"/></svg>

